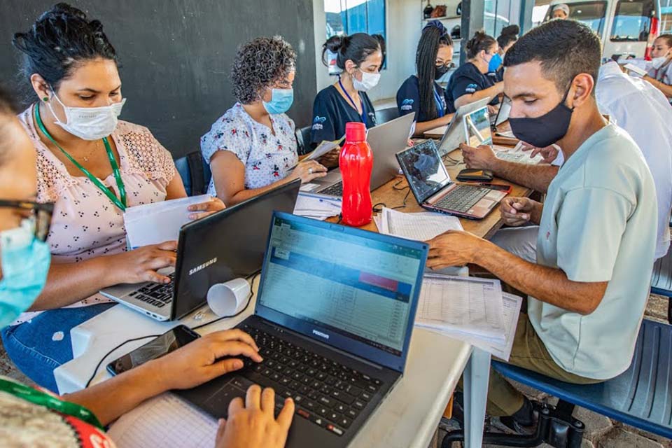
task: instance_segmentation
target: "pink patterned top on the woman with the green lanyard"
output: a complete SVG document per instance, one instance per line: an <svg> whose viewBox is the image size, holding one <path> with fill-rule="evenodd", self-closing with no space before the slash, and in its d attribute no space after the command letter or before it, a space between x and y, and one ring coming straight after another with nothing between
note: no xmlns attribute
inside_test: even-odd
<svg viewBox="0 0 672 448"><path fill-rule="evenodd" d="M43 144L34 123L33 106L19 119L37 152L37 201L55 203L47 238L52 262L80 262L125 251L123 212L84 174L71 176ZM175 176L175 165L167 149L146 127L125 121L119 122L111 138L119 153L127 206L165 200L166 188ZM102 183L119 196L112 174Z"/></svg>

